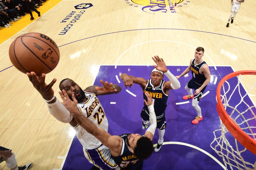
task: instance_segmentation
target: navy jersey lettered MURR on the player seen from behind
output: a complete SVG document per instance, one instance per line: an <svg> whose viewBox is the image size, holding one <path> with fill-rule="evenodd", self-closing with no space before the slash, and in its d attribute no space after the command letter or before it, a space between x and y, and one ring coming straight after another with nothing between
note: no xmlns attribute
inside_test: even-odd
<svg viewBox="0 0 256 170"><path fill-rule="evenodd" d="M123 147L122 147L121 155L116 157L112 156L116 164L119 165L121 168L128 168L139 160L128 148L128 145L127 145L128 135L130 134L120 135L120 137L123 139Z"/></svg>

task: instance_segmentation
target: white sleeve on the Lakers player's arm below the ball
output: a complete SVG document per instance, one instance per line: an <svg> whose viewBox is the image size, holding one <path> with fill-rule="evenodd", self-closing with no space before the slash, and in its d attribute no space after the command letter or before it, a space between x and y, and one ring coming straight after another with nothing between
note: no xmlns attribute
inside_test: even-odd
<svg viewBox="0 0 256 170"><path fill-rule="evenodd" d="M47 103L48 109L58 121L63 123L69 123L71 122L73 116L70 115L69 111L66 109L65 106L63 106L62 103L60 103L60 100L56 98L56 102L49 104Z"/></svg>

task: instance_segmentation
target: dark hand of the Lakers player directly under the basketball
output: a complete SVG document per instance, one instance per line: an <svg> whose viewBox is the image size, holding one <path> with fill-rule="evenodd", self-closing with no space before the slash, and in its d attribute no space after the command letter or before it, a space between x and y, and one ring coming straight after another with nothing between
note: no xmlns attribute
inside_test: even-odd
<svg viewBox="0 0 256 170"><path fill-rule="evenodd" d="M54 91L52 86L56 83L56 78L52 80L52 82L47 85L45 83L45 74L43 73L42 76L36 76L35 72L27 73L29 81L33 84L36 90L42 95L45 100L50 100L54 96Z"/></svg>

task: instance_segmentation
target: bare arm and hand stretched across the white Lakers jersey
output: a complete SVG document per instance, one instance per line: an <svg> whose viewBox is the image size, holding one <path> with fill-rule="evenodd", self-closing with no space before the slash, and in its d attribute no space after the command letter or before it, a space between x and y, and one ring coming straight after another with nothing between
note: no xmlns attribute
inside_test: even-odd
<svg viewBox="0 0 256 170"><path fill-rule="evenodd" d="M59 94L63 100L62 104L68 109L70 114L82 128L99 139L102 144L111 150L111 153L119 153L122 150L120 148L122 147L123 141L119 136L111 136L107 131L98 128L92 121L79 112L77 109L77 100L74 94L72 94L73 101L69 99L65 90L62 90L62 93L59 92Z"/></svg>

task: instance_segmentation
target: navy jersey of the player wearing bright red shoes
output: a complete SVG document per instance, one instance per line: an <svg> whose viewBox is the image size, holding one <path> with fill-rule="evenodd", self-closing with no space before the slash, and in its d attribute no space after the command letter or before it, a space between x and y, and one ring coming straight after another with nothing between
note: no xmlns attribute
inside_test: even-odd
<svg viewBox="0 0 256 170"><path fill-rule="evenodd" d="M196 59L194 59L191 62L191 72L192 72L192 76L193 76L192 79L194 79L194 81L198 85L203 85L204 81L206 80L206 78L204 77L204 74L200 73L202 66L205 64L206 64L205 61L202 61L201 63L196 64Z"/></svg>

